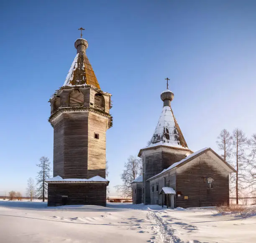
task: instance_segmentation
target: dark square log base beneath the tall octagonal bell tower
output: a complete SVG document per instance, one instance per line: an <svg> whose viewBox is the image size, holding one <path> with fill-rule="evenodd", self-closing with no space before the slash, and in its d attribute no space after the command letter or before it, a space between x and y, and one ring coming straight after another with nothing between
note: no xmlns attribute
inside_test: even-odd
<svg viewBox="0 0 256 243"><path fill-rule="evenodd" d="M106 183L48 183L48 206L106 206Z"/></svg>

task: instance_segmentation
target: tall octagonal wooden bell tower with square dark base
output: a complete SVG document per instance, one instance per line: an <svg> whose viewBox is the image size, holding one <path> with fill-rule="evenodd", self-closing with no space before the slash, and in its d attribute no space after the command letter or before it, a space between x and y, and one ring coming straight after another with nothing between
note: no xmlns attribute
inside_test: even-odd
<svg viewBox="0 0 256 243"><path fill-rule="evenodd" d="M111 94L100 85L87 58L87 40L74 43L77 55L52 98L54 177L47 180L48 206L106 205L106 130L112 126Z"/></svg>

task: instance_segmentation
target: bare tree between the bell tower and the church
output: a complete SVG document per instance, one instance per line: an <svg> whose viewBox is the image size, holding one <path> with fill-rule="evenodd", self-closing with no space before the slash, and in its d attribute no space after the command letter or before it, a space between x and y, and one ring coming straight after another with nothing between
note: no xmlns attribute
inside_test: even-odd
<svg viewBox="0 0 256 243"><path fill-rule="evenodd" d="M131 182L136 179L141 173L142 160L141 158L130 156L124 165L124 170L121 175L123 185L118 185L116 188L125 196L132 195Z"/></svg>

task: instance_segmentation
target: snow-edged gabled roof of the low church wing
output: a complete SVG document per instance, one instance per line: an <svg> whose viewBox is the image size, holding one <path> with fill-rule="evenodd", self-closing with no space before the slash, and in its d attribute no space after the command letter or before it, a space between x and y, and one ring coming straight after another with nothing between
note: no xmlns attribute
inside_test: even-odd
<svg viewBox="0 0 256 243"><path fill-rule="evenodd" d="M174 164L172 164L171 166L169 166L167 169L164 169L163 171L161 171L159 174L152 176L151 178L149 178L148 180L151 180L163 173L165 173L166 171L172 170L173 168L177 168L180 167L186 163L188 163L189 161L197 158L198 156L202 155L203 153L206 153L207 151L211 151L215 156L218 157L218 159L220 159L226 166L228 166L229 168L229 172L236 172L236 170L229 165L227 162L225 162L225 160L223 160L223 158L220 157L220 155L218 155L217 153L215 153L215 151L213 151L211 148L202 148L198 151L196 151L195 153L192 153L190 155L188 155L186 158L184 158L183 160L180 160L179 162L176 162Z"/></svg>

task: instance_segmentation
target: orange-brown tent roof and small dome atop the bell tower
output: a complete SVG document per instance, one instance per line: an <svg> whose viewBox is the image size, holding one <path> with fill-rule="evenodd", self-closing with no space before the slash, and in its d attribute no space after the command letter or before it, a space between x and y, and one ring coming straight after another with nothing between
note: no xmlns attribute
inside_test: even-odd
<svg viewBox="0 0 256 243"><path fill-rule="evenodd" d="M63 86L88 84L100 89L100 85L92 69L92 65L86 55L86 48L88 47L87 40L77 39L75 47L77 48L77 55L69 69Z"/></svg>

